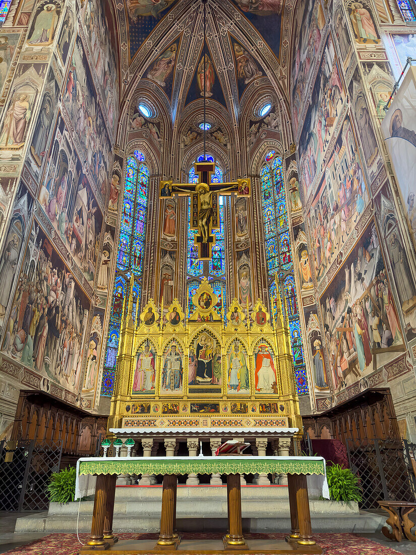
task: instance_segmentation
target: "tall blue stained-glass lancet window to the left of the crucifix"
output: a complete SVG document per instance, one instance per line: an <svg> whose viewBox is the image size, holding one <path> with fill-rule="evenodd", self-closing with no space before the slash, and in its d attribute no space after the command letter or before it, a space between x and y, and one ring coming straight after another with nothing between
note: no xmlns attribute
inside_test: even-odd
<svg viewBox="0 0 416 555"><path fill-rule="evenodd" d="M143 248L148 208L149 168L144 164L144 154L136 150L127 160L123 209L120 219L120 237L114 280L113 305L108 328L107 350L104 361L101 395L113 395L115 362L119 347L121 318L129 278L134 274L133 317L136 301L140 299Z"/></svg>

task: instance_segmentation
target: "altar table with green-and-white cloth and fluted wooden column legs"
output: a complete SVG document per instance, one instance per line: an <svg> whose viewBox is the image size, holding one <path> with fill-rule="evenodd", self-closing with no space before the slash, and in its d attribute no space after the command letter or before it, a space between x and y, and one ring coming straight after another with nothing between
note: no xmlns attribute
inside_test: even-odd
<svg viewBox="0 0 416 555"><path fill-rule="evenodd" d="M118 542L113 534L113 511L115 484L120 474L161 474L163 478L162 510L159 539L152 546L141 549L131 542ZM97 476L91 534L87 545L80 549L80 555L93 553L192 553L187 547L181 550L180 537L175 532L177 475L218 473L227 475L227 508L229 529L222 538L221 549L207 550L206 553L322 553L322 549L312 537L311 514L309 509L306 476L321 474L326 476L323 457L97 457L80 458L77 462L77 483L75 499L82 497L85 478ZM250 541L247 546L242 532L241 488L242 473L278 473L288 476L288 493L291 516L291 533L283 546L270 543L259 549ZM272 486L271 486L272 487ZM85 493L85 492L84 492ZM328 497L327 482L324 481L323 496ZM126 543L126 546L122 546ZM140 543L140 542L138 542ZM127 545L128 544L128 545ZM144 547L144 546L143 546ZM200 544L195 542L197 553L202 553ZM253 551L252 551L253 549ZM205 553L205 551L204 551Z"/></svg>

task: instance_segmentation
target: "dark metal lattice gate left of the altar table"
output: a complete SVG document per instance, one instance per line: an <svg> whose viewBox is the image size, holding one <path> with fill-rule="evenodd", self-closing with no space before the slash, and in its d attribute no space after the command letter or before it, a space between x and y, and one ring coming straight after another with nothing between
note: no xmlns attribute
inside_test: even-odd
<svg viewBox="0 0 416 555"><path fill-rule="evenodd" d="M1 441L0 511L47 510L46 488L61 455L61 441Z"/></svg>

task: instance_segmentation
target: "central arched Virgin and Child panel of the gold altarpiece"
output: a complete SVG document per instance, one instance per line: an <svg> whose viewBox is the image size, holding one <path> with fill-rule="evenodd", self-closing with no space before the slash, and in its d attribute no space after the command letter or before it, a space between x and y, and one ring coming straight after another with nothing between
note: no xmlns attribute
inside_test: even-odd
<svg viewBox="0 0 416 555"><path fill-rule="evenodd" d="M221 393L221 346L209 331L202 331L189 347L188 384L189 393Z"/></svg>

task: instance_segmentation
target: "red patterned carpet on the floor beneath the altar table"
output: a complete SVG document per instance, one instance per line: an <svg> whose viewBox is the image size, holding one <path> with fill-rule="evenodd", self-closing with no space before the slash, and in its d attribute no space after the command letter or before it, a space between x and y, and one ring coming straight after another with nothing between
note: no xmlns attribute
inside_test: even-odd
<svg viewBox="0 0 416 555"><path fill-rule="evenodd" d="M192 539L200 538L202 534L184 533L181 536ZM247 539L263 537L281 539L283 536L284 534L245 534ZM88 534L79 534L79 537L82 542L86 542ZM120 539L156 539L157 537L158 534L119 534ZM218 534L203 534L203 537L218 537ZM355 534L315 534L315 537L325 555L396 555L398 553L393 548L383 547ZM77 534L50 534L37 542L8 551L4 555L77 555L79 547Z"/></svg>

